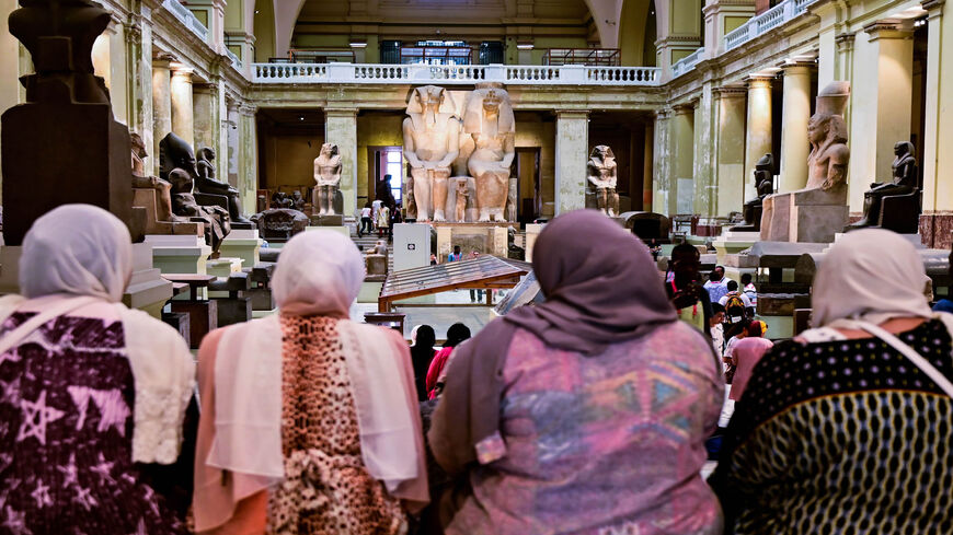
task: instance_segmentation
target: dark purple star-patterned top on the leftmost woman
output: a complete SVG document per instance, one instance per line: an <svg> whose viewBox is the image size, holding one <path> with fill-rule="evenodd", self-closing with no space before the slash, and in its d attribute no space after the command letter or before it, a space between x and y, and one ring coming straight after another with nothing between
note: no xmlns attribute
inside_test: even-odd
<svg viewBox="0 0 953 535"><path fill-rule="evenodd" d="M0 534L186 533L133 463L134 402L118 318L60 316L0 354Z"/></svg>

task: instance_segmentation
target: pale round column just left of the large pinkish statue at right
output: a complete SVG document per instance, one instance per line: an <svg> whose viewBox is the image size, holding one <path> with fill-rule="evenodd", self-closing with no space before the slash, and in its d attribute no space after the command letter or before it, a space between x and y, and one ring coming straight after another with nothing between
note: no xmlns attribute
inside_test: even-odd
<svg viewBox="0 0 953 535"><path fill-rule="evenodd" d="M807 185L807 119L811 118L811 65L784 66L783 118L781 121L780 191L794 191Z"/></svg>

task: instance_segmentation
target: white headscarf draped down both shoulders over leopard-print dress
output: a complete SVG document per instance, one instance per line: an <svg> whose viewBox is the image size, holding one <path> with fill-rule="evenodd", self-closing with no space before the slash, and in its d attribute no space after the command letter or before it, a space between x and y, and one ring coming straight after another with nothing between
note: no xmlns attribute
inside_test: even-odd
<svg viewBox="0 0 953 535"><path fill-rule="evenodd" d="M342 318L337 328L365 466L392 495L426 503L423 432L406 346L387 329L347 319L364 275L364 260L349 239L333 231L309 231L282 249L272 288L282 314ZM237 489L236 500L285 476L282 352L278 315L229 327L218 346L215 440L206 463L250 476L251 482ZM210 520L206 524L198 510L196 523L199 531L215 525Z"/></svg>

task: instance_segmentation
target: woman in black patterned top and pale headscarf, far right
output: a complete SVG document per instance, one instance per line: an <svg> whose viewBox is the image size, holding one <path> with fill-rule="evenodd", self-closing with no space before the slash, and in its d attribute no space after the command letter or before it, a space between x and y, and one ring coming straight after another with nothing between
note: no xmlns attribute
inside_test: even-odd
<svg viewBox="0 0 953 535"><path fill-rule="evenodd" d="M926 282L893 232L831 247L815 328L758 362L709 479L726 533L953 533L953 316Z"/></svg>

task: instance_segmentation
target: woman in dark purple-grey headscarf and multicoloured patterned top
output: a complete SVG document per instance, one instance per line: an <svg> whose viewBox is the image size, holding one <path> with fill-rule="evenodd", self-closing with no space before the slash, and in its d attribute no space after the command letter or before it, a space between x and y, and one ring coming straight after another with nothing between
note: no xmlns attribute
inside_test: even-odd
<svg viewBox="0 0 953 535"><path fill-rule="evenodd" d="M595 210L540 233L546 302L458 346L427 435L449 534L717 534L699 476L724 383L645 245Z"/></svg>

